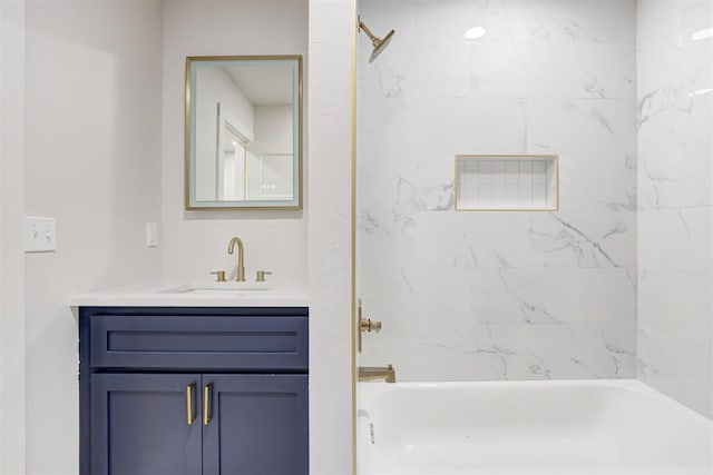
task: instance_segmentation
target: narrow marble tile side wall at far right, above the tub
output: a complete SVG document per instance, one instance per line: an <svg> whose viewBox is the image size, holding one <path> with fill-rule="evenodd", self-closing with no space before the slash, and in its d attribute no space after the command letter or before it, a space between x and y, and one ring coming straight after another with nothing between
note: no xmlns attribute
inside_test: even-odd
<svg viewBox="0 0 713 475"><path fill-rule="evenodd" d="M710 0L638 1L638 378L713 416Z"/></svg>

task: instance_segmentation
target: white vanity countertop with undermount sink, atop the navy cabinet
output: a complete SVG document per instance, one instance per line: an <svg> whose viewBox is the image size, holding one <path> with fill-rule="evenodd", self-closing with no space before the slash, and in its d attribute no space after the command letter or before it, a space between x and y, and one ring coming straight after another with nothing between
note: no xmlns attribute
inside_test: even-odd
<svg viewBox="0 0 713 475"><path fill-rule="evenodd" d="M247 283L250 285L250 283ZM306 284L266 283L258 290L219 290L219 283L205 278L162 278L123 287L75 295L72 307L306 307ZM234 283L225 283L225 286ZM206 291L180 293L180 287L203 287ZM213 287L213 288L211 288ZM172 291L172 289L175 289Z"/></svg>

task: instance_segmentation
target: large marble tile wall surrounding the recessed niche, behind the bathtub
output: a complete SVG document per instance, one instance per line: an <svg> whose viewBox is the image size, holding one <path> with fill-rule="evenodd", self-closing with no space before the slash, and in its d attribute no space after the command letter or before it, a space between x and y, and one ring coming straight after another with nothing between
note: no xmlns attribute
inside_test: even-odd
<svg viewBox="0 0 713 475"><path fill-rule="evenodd" d="M361 0L362 365L399 379L634 377L634 0ZM473 26L488 32L466 40ZM557 154L558 211L455 211L457 154Z"/></svg>

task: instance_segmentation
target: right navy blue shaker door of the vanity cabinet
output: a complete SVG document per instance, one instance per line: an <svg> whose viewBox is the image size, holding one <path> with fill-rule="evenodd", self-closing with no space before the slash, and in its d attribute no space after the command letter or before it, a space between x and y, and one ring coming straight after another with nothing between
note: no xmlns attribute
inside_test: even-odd
<svg viewBox="0 0 713 475"><path fill-rule="evenodd" d="M306 475L307 375L203 375L204 475Z"/></svg>

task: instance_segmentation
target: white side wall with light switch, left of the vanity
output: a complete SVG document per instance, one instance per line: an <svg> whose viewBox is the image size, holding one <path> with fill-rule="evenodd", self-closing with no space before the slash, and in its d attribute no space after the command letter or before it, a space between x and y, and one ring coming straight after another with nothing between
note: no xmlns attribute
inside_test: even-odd
<svg viewBox="0 0 713 475"><path fill-rule="evenodd" d="M29 474L78 471L68 297L160 274L160 26L158 2L27 2L25 214L57 218L26 257Z"/></svg>

